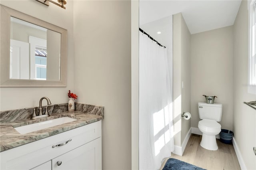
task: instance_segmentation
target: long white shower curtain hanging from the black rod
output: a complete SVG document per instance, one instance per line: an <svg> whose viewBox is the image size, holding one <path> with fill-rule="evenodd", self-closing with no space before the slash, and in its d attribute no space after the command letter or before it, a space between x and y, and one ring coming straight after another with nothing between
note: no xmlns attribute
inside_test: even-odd
<svg viewBox="0 0 256 170"><path fill-rule="evenodd" d="M156 170L174 150L166 48L139 32L139 168Z"/></svg>

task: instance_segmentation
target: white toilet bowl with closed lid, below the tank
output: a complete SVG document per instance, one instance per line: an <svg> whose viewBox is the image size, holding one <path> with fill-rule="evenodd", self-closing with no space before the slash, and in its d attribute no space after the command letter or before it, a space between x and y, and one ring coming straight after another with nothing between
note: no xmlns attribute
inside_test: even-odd
<svg viewBox="0 0 256 170"><path fill-rule="evenodd" d="M214 120L203 119L198 122L198 128L203 133L200 146L208 150L218 150L216 134L221 131L221 125Z"/></svg>

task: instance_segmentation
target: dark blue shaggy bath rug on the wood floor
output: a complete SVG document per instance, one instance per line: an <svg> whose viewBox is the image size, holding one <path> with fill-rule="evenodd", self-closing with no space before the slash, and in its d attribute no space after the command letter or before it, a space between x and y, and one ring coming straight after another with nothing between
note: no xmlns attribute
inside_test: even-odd
<svg viewBox="0 0 256 170"><path fill-rule="evenodd" d="M163 170L206 170L178 159L170 158L164 165Z"/></svg>

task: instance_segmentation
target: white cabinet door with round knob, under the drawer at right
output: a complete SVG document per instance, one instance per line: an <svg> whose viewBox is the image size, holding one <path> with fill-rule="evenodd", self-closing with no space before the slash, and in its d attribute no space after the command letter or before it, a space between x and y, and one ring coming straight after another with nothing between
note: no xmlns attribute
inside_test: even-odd
<svg viewBox="0 0 256 170"><path fill-rule="evenodd" d="M98 169L102 169L101 138L52 159L52 170Z"/></svg>

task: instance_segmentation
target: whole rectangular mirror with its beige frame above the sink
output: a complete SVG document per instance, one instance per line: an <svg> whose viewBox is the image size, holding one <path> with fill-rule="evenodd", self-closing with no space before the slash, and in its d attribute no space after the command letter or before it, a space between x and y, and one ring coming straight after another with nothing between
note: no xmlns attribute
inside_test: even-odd
<svg viewBox="0 0 256 170"><path fill-rule="evenodd" d="M0 86L66 86L67 30L0 8Z"/></svg>

